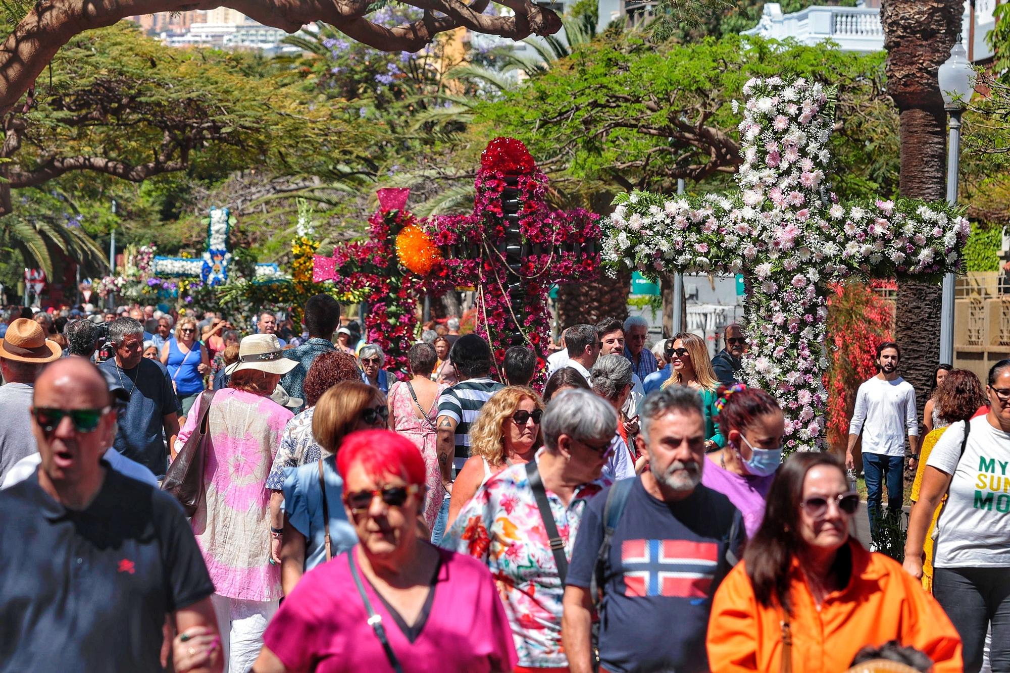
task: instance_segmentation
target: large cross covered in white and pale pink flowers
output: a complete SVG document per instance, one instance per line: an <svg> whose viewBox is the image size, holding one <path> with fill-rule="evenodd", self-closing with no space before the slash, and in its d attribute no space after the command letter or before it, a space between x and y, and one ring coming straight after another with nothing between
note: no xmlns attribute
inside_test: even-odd
<svg viewBox="0 0 1010 673"><path fill-rule="evenodd" d="M827 283L939 278L956 271L970 227L945 203L838 203L824 183L833 91L772 77L748 81L743 93L739 193L618 195L604 264L651 278L742 273L749 320L743 377L778 397L787 450L813 450L824 442Z"/></svg>

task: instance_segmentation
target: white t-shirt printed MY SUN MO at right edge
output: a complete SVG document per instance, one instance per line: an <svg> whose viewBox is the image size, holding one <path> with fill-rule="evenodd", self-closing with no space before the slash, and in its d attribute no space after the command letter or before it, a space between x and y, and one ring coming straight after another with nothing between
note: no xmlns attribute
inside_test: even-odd
<svg viewBox="0 0 1010 673"><path fill-rule="evenodd" d="M1010 568L1010 434L986 416L965 421L940 437L926 465L953 475L936 524L935 568Z"/></svg>

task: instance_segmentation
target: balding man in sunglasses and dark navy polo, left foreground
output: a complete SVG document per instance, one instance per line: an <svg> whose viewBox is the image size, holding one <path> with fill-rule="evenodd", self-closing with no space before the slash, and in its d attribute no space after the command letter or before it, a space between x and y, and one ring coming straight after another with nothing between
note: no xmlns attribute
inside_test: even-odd
<svg viewBox="0 0 1010 673"><path fill-rule="evenodd" d="M101 460L116 412L105 379L65 358L35 382L36 474L0 492L0 671L161 671L176 630L217 621L182 507ZM221 671L219 649L200 671Z"/></svg>

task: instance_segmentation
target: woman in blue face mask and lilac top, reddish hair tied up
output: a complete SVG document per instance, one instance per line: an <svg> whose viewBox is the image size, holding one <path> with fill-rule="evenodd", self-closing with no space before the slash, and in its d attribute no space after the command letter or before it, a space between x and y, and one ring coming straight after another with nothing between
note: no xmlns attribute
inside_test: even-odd
<svg viewBox="0 0 1010 673"><path fill-rule="evenodd" d="M752 538L782 463L785 418L771 395L742 383L720 388L715 407L726 446L705 457L701 483L729 498L743 514L747 538Z"/></svg>

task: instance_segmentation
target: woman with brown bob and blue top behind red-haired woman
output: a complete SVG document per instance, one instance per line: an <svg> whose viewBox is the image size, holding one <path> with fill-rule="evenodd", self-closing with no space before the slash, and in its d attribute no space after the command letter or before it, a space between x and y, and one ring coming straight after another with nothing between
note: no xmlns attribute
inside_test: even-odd
<svg viewBox="0 0 1010 673"><path fill-rule="evenodd" d="M349 357L344 353L332 355ZM305 572L350 549L357 541L339 504L343 480L336 469L336 450L356 430L385 429L389 415L382 393L361 381L337 383L312 408L312 436L321 455L288 470L282 486L284 532L280 556L284 595L291 594Z"/></svg>

